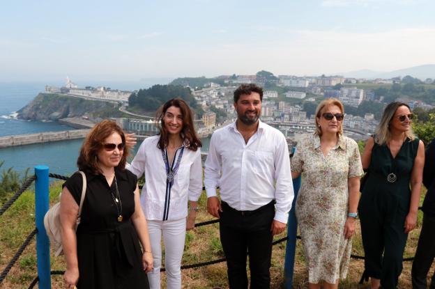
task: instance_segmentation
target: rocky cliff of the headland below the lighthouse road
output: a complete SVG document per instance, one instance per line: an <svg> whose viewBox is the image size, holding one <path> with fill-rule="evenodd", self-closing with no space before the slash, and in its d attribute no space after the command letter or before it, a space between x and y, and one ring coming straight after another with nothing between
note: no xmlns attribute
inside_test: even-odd
<svg viewBox="0 0 435 289"><path fill-rule="evenodd" d="M116 117L121 114L118 108L119 104L112 102L40 93L29 104L17 111L17 117L24 120L59 120L82 116Z"/></svg>

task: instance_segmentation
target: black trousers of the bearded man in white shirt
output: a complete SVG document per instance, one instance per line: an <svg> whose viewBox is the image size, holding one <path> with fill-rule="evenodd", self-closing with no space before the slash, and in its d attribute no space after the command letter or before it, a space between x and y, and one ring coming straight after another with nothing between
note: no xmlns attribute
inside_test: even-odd
<svg viewBox="0 0 435 289"><path fill-rule="evenodd" d="M275 216L274 202L254 211L238 211L222 202L220 241L227 257L229 288L247 288L246 252L249 252L250 288L270 288L270 258Z"/></svg>

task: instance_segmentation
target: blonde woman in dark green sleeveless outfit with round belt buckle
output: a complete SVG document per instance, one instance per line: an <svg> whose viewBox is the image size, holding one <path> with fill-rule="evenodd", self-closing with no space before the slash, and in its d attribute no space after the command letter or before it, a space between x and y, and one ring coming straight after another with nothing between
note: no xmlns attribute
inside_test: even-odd
<svg viewBox="0 0 435 289"><path fill-rule="evenodd" d="M406 238L417 223L425 147L411 130L412 117L408 104L388 104L362 157L369 175L358 210L371 288L397 287Z"/></svg>

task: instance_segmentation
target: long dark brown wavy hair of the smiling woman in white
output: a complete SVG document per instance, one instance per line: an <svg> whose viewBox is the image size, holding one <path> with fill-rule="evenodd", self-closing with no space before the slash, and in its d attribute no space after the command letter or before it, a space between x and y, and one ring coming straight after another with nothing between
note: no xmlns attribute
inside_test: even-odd
<svg viewBox="0 0 435 289"><path fill-rule="evenodd" d="M202 143L194 130L192 110L184 100L178 97L168 100L157 111L157 125L160 130L160 139L157 147L160 149L166 148L169 143L169 133L163 123L163 117L169 107L178 107L181 110L181 116L183 116L183 128L181 129L180 134L183 139L183 145L187 146L190 150L196 151L202 146Z"/></svg>

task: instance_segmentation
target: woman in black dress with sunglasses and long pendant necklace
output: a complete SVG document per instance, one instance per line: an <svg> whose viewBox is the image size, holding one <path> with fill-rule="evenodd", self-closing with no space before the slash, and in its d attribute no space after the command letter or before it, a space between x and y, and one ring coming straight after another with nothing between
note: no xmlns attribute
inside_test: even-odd
<svg viewBox="0 0 435 289"><path fill-rule="evenodd" d="M148 288L153 268L137 178L125 170L128 151L121 128L111 120L86 136L77 166L86 174L81 222L75 231L82 176L75 173L61 195L66 288ZM142 249L139 245L142 244Z"/></svg>

